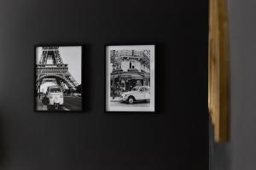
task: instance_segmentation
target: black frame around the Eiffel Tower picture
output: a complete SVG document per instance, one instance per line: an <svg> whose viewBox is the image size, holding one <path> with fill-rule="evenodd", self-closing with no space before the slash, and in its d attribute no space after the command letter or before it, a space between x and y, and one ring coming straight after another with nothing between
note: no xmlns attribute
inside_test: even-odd
<svg viewBox="0 0 256 170"><path fill-rule="evenodd" d="M39 47L80 47L81 48L81 110L79 111L40 111L37 110L37 90L36 90L36 82L37 82L37 48ZM84 56L84 50L85 50L85 45L82 43L39 43L34 45L34 55L33 55L33 90L34 90L34 95L33 95L33 111L36 113L83 113L84 112L84 61L85 61L85 56Z"/></svg>

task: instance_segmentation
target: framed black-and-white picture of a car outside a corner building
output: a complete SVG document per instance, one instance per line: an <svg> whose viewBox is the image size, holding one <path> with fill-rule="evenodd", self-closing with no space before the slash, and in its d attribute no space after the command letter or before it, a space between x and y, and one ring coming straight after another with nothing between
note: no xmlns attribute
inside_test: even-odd
<svg viewBox="0 0 256 170"><path fill-rule="evenodd" d="M106 45L105 111L154 112L155 45Z"/></svg>

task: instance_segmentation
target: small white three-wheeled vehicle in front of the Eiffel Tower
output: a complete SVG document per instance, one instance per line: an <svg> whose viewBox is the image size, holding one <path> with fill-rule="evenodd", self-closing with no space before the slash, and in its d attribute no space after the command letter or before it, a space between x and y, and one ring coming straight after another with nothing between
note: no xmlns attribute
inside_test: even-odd
<svg viewBox="0 0 256 170"><path fill-rule="evenodd" d="M46 91L46 98L49 99L48 105L53 105L55 110L58 110L59 106L64 103L63 92L58 86L48 87Z"/></svg>

